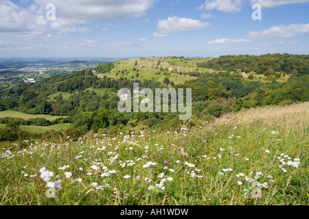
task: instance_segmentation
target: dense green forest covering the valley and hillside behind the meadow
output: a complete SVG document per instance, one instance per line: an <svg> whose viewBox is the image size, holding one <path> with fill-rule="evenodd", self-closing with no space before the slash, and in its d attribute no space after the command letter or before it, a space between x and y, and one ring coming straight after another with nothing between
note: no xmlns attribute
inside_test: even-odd
<svg viewBox="0 0 309 219"><path fill-rule="evenodd" d="M174 85L167 79L160 83L153 80L129 80L120 77L98 77L93 70L108 73L114 67L106 63L73 73L42 79L37 83L18 83L0 90L0 110L16 110L27 114L68 116L55 123L72 123L80 133L127 127L175 127L181 124L176 113L125 113L117 110L120 88L192 88L192 118L219 117L227 112L264 105L288 105L309 100L309 55L222 56L197 67L215 69L212 73L198 73L195 79ZM237 70L237 69L240 69ZM287 81L258 81L245 78L241 71L265 76L288 74ZM62 94L67 94L63 96ZM51 94L58 94L50 98ZM6 120L5 120L6 119ZM10 118L0 123L9 123ZM15 120L17 125L50 125L46 120Z"/></svg>

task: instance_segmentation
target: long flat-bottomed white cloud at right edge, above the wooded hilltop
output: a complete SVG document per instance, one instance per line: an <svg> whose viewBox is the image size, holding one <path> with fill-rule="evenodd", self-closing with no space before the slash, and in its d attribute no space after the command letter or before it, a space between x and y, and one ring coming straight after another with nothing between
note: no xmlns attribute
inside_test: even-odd
<svg viewBox="0 0 309 219"><path fill-rule="evenodd" d="M250 38L293 38L299 34L309 34L309 23L274 26L264 31L252 31Z"/></svg>

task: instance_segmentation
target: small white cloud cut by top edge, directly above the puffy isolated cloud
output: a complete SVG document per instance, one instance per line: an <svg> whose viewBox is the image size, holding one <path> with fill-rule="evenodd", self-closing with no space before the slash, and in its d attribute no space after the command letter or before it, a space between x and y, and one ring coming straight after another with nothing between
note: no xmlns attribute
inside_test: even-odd
<svg viewBox="0 0 309 219"><path fill-rule="evenodd" d="M205 10L219 10L221 12L240 12L244 0L206 0Z"/></svg>

